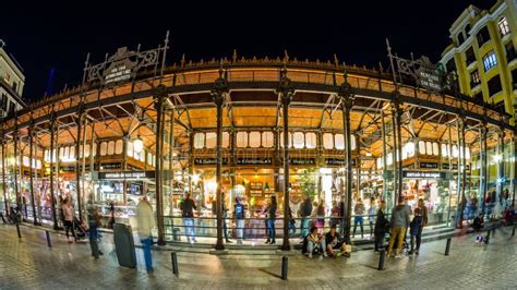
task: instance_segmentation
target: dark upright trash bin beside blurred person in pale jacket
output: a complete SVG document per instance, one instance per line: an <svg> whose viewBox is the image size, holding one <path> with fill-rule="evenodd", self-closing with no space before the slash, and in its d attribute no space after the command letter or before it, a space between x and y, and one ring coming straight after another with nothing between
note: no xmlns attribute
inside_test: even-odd
<svg viewBox="0 0 517 290"><path fill-rule="evenodd" d="M135 268L136 254L134 251L134 240L131 226L127 226L124 223L115 223L113 241L119 265Z"/></svg>

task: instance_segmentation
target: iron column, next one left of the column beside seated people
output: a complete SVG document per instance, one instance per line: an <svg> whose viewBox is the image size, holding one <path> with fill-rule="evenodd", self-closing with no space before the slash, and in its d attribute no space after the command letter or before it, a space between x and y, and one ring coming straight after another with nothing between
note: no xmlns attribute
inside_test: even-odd
<svg viewBox="0 0 517 290"><path fill-rule="evenodd" d="M212 97L217 110L217 131L216 131L216 214L217 214L217 242L215 250L223 251L223 191L221 191L221 168L223 168L223 105L225 104L225 95L228 94L228 81L224 75L223 68L219 70L219 77L215 81L212 89Z"/></svg>

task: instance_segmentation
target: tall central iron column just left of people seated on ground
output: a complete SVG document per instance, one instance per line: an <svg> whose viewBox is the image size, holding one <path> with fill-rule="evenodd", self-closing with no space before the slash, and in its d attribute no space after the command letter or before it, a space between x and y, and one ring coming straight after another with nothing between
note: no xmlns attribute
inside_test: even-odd
<svg viewBox="0 0 517 290"><path fill-rule="evenodd" d="M289 105L292 100L294 90L291 86L291 80L287 76L287 70L280 71L277 94L280 96L282 117L284 117L284 241L282 251L291 250L289 244Z"/></svg>

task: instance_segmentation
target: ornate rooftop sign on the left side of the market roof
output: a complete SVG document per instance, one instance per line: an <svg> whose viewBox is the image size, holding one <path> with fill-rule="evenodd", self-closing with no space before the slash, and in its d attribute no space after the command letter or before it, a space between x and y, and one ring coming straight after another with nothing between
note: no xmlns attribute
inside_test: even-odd
<svg viewBox="0 0 517 290"><path fill-rule="evenodd" d="M99 82L101 86L112 86L134 80L136 73L148 67L155 68L155 73L165 64L165 55L168 49L169 33L167 33L165 45L158 48L140 51L129 50L121 47L115 55L107 57L103 63L91 65L86 60L84 68L84 83Z"/></svg>

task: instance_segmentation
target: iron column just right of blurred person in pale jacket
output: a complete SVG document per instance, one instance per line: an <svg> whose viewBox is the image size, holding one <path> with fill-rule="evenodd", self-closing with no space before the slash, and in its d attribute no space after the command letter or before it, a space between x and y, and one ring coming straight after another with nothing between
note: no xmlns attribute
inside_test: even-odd
<svg viewBox="0 0 517 290"><path fill-rule="evenodd" d="M164 99L167 97L167 92L164 85L157 88L157 97L155 98L156 108L156 220L158 228L158 245L165 245L164 232L164 180L161 169L164 166Z"/></svg>

